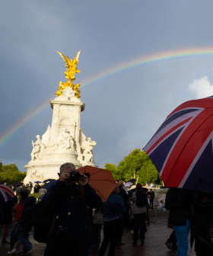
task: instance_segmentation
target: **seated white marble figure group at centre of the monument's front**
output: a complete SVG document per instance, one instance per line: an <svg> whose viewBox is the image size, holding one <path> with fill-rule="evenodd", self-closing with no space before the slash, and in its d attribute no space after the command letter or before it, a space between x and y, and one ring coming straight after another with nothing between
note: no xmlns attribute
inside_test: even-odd
<svg viewBox="0 0 213 256"><path fill-rule="evenodd" d="M60 149L71 149L72 151L75 151L75 139L72 138L66 128L62 129L62 133L59 134L53 148L53 150Z"/></svg>

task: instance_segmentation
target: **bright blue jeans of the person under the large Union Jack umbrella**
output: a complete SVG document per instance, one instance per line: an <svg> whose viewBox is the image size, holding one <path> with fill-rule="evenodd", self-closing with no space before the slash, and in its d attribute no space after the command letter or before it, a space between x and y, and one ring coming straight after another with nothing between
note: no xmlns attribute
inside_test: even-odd
<svg viewBox="0 0 213 256"><path fill-rule="evenodd" d="M187 256L188 252L188 236L190 230L190 222L186 219L186 225L183 226L173 226L176 234L176 240L178 242L178 247L176 251L176 256Z"/></svg>

